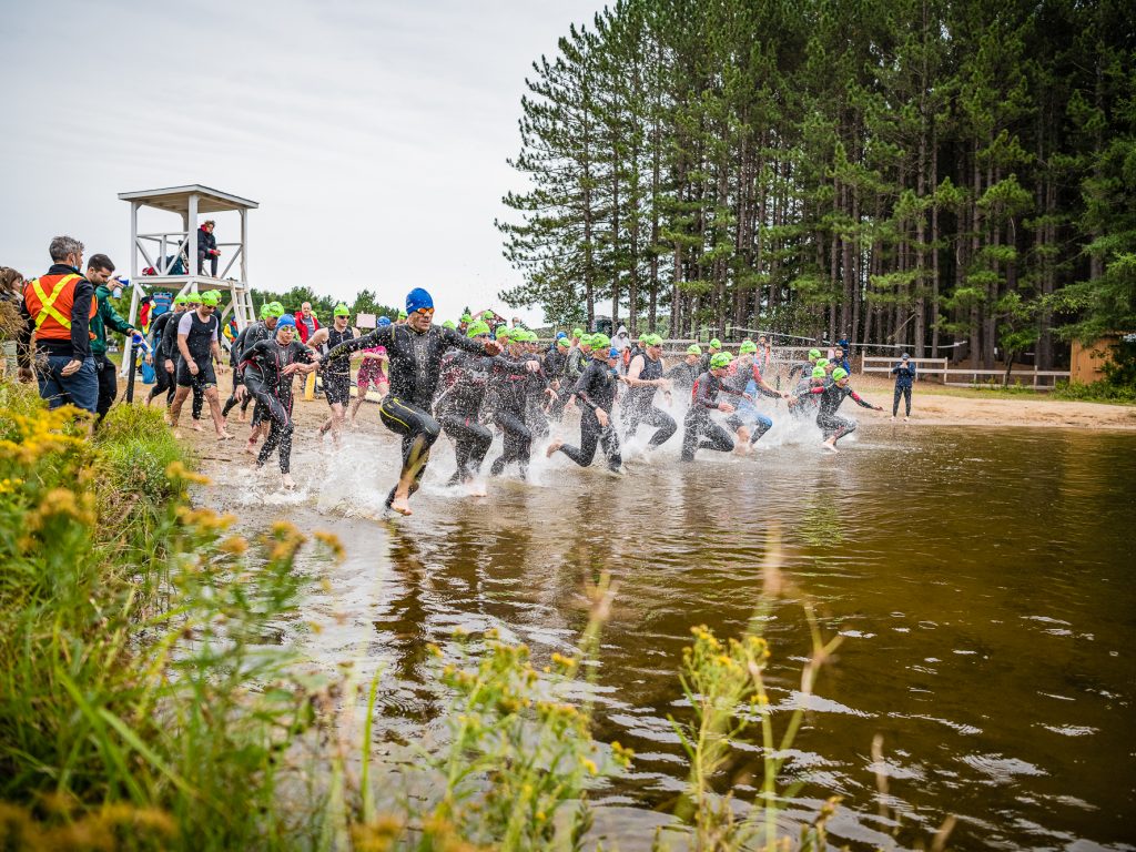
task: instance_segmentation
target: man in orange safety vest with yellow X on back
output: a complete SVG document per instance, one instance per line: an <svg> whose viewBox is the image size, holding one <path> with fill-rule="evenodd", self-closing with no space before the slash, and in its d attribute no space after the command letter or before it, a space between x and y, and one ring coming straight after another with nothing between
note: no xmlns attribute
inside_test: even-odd
<svg viewBox="0 0 1136 852"><path fill-rule="evenodd" d="M70 403L92 414L99 403L99 378L91 354L91 319L99 306L94 287L78 269L83 243L70 236L51 241L51 268L24 286L20 312L25 328L17 357L20 378L31 381L32 333L40 396L50 408Z"/></svg>

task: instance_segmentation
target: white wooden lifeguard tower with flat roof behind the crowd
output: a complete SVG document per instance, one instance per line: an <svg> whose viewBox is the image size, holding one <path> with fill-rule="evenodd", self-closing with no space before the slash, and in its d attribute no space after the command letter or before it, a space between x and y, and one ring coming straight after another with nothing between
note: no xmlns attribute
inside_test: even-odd
<svg viewBox="0 0 1136 852"><path fill-rule="evenodd" d="M192 184L190 186L172 186L165 190L147 190L143 192L120 192L118 198L131 206L131 315L133 325L137 319L142 298L151 290L173 290L176 295L199 293L206 290L219 290L228 293L229 299L220 311L224 325L232 312L236 325L243 329L253 317L252 293L249 289L249 210L256 210L260 204L256 201L231 195L227 192ZM139 210L151 207L181 217L181 228L157 233L139 233ZM222 262L224 267L214 278L198 272L198 216L236 211L241 217L239 242L220 242ZM225 236L225 234L222 234ZM234 269L234 265L236 268ZM152 270L143 275L143 270ZM123 353L123 375L126 375L131 359L131 341L126 341Z"/></svg>

